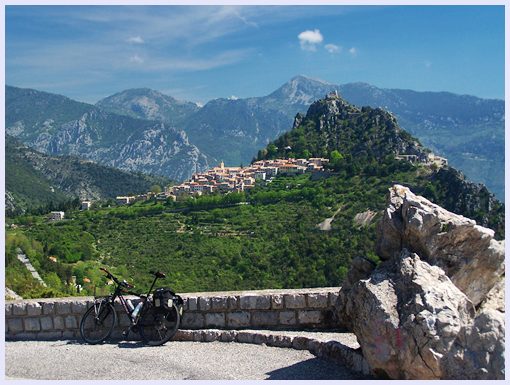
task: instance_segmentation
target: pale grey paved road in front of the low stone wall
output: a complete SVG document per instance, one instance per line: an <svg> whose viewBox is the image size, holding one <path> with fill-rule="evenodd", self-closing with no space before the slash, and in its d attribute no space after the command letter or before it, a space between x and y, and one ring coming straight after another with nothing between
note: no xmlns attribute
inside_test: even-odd
<svg viewBox="0 0 510 385"><path fill-rule="evenodd" d="M161 347L140 342L6 342L5 375L40 380L361 379L306 350L225 342L168 342Z"/></svg>

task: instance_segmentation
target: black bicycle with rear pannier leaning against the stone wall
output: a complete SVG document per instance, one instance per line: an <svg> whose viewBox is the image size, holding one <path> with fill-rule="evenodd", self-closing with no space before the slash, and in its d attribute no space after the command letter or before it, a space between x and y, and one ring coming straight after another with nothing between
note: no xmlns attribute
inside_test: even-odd
<svg viewBox="0 0 510 385"><path fill-rule="evenodd" d="M131 291L134 288L126 280L118 280L105 268L100 270L106 273L108 279L115 282L113 294L106 297L94 297L94 304L87 309L80 322L80 335L89 344L99 344L110 337L117 323L115 299L120 303L130 320L130 326L122 333L127 337L130 331L138 332L147 345L158 346L168 342L177 333L180 325L183 300L171 289L158 288L151 294L156 281L165 278L165 273L151 271L154 281L147 294L138 294ZM133 306L124 294L136 295L140 302Z"/></svg>

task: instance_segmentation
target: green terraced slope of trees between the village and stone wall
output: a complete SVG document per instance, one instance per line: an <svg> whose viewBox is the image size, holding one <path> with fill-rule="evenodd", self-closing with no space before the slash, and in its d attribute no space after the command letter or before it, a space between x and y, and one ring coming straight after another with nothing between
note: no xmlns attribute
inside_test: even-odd
<svg viewBox="0 0 510 385"><path fill-rule="evenodd" d="M141 290L148 288L153 268L166 271L167 282L182 292L337 286L354 256L377 260L375 222L354 226L354 216L381 211L394 180L419 179L408 163L375 167L386 176L339 172L313 181L305 174L276 178L247 193L71 212L62 222L18 217L8 234L26 239L22 248L28 240L38 245L31 260L43 277L56 283L76 276L85 288L81 294L104 287L101 264ZM331 231L320 231L317 225L338 209ZM9 266L8 274L14 271Z"/></svg>

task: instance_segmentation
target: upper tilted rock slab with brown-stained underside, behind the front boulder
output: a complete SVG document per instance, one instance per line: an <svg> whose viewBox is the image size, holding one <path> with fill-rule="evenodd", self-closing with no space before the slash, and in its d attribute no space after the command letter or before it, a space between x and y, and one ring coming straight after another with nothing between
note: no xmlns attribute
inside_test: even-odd
<svg viewBox="0 0 510 385"><path fill-rule="evenodd" d="M390 189L376 247L381 259L391 259L407 248L441 267L475 306L505 271L504 241L494 239L493 230L400 185Z"/></svg>

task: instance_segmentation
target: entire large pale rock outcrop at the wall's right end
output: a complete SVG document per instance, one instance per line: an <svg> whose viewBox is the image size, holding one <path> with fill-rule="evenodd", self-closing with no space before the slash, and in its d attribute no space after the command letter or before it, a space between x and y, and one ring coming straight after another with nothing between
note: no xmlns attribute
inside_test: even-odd
<svg viewBox="0 0 510 385"><path fill-rule="evenodd" d="M377 251L377 267L353 261L337 302L372 371L504 379L504 242L396 185Z"/></svg>

